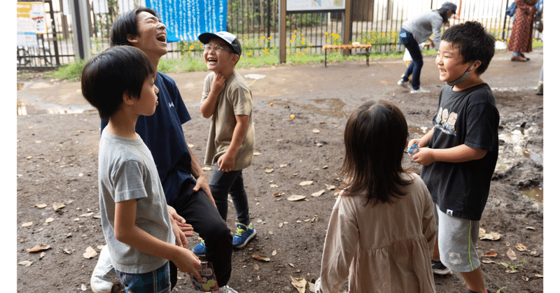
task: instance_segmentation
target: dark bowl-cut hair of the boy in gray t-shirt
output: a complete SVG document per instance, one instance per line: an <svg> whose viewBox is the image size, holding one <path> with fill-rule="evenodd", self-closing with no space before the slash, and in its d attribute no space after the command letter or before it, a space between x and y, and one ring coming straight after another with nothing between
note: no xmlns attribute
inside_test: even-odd
<svg viewBox="0 0 560 293"><path fill-rule="evenodd" d="M82 94L106 120L120 108L123 94L139 99L144 82L154 72L150 59L138 48L110 47L85 64Z"/></svg>

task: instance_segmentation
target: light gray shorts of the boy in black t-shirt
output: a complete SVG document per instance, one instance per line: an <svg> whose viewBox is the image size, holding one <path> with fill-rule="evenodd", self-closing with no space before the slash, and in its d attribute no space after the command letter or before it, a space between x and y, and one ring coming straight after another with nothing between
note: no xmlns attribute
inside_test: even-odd
<svg viewBox="0 0 560 293"><path fill-rule="evenodd" d="M480 260L475 245L478 240L480 221L447 215L437 204L434 204L433 208L440 261L452 271L459 273L468 273L477 269Z"/></svg>

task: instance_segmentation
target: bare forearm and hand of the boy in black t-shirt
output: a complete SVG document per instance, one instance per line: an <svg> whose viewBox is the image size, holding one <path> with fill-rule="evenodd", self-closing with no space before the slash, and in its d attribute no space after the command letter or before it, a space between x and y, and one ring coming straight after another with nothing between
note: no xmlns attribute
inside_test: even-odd
<svg viewBox="0 0 560 293"><path fill-rule="evenodd" d="M412 156L412 159L414 159L414 162L424 166L428 166L433 162L461 163L472 161L473 159L482 159L486 152L488 151L470 148L470 146L462 144L444 149L420 148L420 151Z"/></svg>

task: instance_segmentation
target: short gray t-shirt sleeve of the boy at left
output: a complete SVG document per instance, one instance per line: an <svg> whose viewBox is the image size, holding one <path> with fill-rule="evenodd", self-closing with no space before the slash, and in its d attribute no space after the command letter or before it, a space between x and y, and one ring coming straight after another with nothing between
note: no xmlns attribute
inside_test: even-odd
<svg viewBox="0 0 560 293"><path fill-rule="evenodd" d="M137 161L125 161L113 172L115 202L148 197L144 185L144 170Z"/></svg>

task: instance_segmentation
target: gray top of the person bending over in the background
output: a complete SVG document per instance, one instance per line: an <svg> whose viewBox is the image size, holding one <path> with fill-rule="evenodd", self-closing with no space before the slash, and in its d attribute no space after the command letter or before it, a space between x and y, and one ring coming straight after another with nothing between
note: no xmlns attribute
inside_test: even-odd
<svg viewBox="0 0 560 293"><path fill-rule="evenodd" d="M443 18L440 13L437 13L437 10L429 10L402 22L402 28L409 31L417 43L423 43L433 34L432 41L435 50L439 50L442 40L442 24Z"/></svg>

